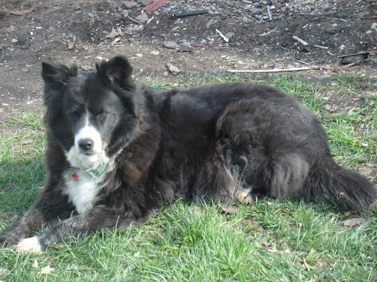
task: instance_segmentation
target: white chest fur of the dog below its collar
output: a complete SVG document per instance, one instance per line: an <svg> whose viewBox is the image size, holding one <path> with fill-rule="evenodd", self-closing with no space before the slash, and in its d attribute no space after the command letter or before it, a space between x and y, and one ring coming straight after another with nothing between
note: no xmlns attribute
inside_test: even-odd
<svg viewBox="0 0 377 282"><path fill-rule="evenodd" d="M102 187L98 184L102 182L102 177L92 179L86 171L78 170L74 173L68 172L64 178L66 187L63 193L68 195L69 201L78 213L82 214L92 209L100 199L98 194Z"/></svg>

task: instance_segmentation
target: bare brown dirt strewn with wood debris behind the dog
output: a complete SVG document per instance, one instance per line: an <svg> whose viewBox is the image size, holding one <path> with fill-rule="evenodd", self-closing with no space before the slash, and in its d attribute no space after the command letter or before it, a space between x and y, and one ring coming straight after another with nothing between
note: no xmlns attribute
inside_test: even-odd
<svg viewBox="0 0 377 282"><path fill-rule="evenodd" d="M168 63L198 73L318 65L320 70L306 72L308 79L321 81L334 71L377 78L375 0L167 1L146 13L152 2L3 1L0 120L10 112L40 111L43 59L91 70L96 57L124 54L134 73L160 78L164 72L173 77ZM197 10L209 13L172 17ZM177 46L164 46L169 41ZM338 56L358 52L369 52L361 65L329 69Z"/></svg>

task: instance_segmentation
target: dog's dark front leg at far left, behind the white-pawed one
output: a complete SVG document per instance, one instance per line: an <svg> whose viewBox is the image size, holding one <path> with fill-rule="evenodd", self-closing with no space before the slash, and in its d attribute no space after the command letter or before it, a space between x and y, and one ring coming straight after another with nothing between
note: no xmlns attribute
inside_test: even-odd
<svg viewBox="0 0 377 282"><path fill-rule="evenodd" d="M69 217L72 211L67 196L42 192L22 218L0 236L0 247L12 246L21 239L32 237L54 221Z"/></svg>

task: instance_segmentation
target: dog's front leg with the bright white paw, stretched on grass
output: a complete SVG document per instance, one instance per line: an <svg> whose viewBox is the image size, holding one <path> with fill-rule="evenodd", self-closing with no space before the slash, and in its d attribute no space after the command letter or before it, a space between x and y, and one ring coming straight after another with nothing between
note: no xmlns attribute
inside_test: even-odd
<svg viewBox="0 0 377 282"><path fill-rule="evenodd" d="M83 214L68 218L46 232L33 238L22 240L15 246L19 251L43 251L69 238L85 236L98 229L126 228L131 224L145 222L150 216L136 218L133 213L123 209L113 209L106 206L97 206Z"/></svg>

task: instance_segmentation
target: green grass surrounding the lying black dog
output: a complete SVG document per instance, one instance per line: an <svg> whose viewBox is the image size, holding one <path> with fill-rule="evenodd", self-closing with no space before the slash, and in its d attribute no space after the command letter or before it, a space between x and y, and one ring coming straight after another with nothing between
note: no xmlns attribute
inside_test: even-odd
<svg viewBox="0 0 377 282"><path fill-rule="evenodd" d="M333 78L335 80L335 78ZM171 89L169 80L139 79ZM187 74L180 87L253 76ZM335 90L350 98L361 92L349 77L322 87L287 74L261 83L295 95L323 122L336 160L347 167L377 163L376 96L362 94L360 104L328 112L321 93ZM336 84L336 85L335 85ZM356 86L350 90L350 84ZM358 96L359 97L359 96ZM40 115L14 114L1 126L0 233L33 203L43 185L44 132ZM357 125L357 126L355 126ZM373 178L377 167L371 167ZM267 199L236 205L225 215L219 203L184 201L167 207L147 223L119 232L97 233L60 244L41 256L0 249L4 281L377 281L377 210L369 224L345 228L343 212L328 204ZM32 264L37 260L38 267ZM50 265L51 274L40 274Z"/></svg>

